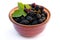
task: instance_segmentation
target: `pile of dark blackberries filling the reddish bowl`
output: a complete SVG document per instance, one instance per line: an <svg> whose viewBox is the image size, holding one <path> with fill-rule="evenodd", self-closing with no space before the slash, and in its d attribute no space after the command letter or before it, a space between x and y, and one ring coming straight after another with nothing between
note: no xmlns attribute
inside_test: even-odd
<svg viewBox="0 0 60 40"><path fill-rule="evenodd" d="M29 4L31 9L24 9L27 15L24 17L13 17L13 19L20 24L35 25L44 22L47 18L47 13L44 11L44 7L36 5L35 3Z"/></svg>

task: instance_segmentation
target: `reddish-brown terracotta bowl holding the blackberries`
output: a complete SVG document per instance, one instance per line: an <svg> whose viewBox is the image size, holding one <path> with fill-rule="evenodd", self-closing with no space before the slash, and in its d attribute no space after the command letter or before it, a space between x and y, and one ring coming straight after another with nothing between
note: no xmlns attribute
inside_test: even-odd
<svg viewBox="0 0 60 40"><path fill-rule="evenodd" d="M12 14L16 10L18 10L18 7L15 7L10 11L9 19L13 23L13 25L14 25L15 29L18 31L18 33L22 36L25 36L25 37L32 37L32 36L36 36L37 34L41 33L44 30L46 23L50 19L50 12L47 8L44 7L44 11L47 13L47 19L43 23L36 24L36 25L19 24L16 21L14 21L12 18Z"/></svg>

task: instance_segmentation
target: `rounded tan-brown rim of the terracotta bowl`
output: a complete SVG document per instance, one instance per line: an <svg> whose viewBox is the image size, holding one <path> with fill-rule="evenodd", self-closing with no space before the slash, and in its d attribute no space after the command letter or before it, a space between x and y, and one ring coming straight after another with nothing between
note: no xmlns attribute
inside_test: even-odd
<svg viewBox="0 0 60 40"><path fill-rule="evenodd" d="M43 7L43 6L42 6ZM47 19L44 21L44 22L42 22L42 23L40 23L40 24L36 24L36 25L24 25L24 24L19 24L19 23L17 23L16 21L14 21L13 20L13 18L12 18L12 14L13 14L13 12L15 11L15 10L17 10L18 9L18 7L14 7L10 12L9 12L9 19L11 20L11 22L13 22L14 24L16 24L16 25L19 25L19 26L24 26L24 27L32 27L32 26L41 26L41 25L44 25L44 24L46 24L47 22L48 22L48 20L50 19L50 16L51 16L51 14L50 14L50 11L47 9L47 8L45 8L44 7L44 10L45 10L45 12L47 12Z"/></svg>

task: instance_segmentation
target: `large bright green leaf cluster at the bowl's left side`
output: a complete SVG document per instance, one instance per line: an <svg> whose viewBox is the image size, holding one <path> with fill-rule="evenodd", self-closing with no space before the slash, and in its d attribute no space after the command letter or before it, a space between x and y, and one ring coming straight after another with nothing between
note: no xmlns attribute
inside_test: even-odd
<svg viewBox="0 0 60 40"><path fill-rule="evenodd" d="M13 13L13 17L26 16L27 13L24 11L24 4L18 3L18 10Z"/></svg>

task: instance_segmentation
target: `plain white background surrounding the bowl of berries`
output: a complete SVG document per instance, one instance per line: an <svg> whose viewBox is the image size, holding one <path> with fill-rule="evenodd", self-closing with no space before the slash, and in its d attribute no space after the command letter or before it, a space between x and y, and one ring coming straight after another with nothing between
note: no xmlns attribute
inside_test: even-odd
<svg viewBox="0 0 60 40"><path fill-rule="evenodd" d="M48 8L51 18L45 30L33 38L20 36L9 20L10 10L18 2L36 3ZM60 40L60 1L59 0L0 0L0 40Z"/></svg>

